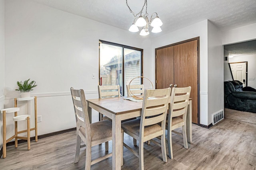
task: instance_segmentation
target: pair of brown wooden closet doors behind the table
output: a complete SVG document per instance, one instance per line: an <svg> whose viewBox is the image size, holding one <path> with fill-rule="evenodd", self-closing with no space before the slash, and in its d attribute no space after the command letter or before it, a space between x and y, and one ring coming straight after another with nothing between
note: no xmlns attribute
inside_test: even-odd
<svg viewBox="0 0 256 170"><path fill-rule="evenodd" d="M192 122L198 123L198 40L156 49L156 89L191 86Z"/></svg>

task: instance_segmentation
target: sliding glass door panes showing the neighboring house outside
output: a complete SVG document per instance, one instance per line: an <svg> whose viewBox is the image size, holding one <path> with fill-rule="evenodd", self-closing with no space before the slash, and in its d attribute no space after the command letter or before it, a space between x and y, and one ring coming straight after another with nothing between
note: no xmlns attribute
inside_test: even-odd
<svg viewBox="0 0 256 170"><path fill-rule="evenodd" d="M127 96L126 84L142 76L142 49L100 41L100 85L119 85L122 96ZM136 78L131 84L141 84Z"/></svg>

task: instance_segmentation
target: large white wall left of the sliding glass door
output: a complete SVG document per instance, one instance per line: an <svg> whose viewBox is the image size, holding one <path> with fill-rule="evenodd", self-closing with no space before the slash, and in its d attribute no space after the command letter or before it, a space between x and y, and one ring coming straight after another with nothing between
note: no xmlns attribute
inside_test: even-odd
<svg viewBox="0 0 256 170"><path fill-rule="evenodd" d="M6 107L12 107L13 98L19 96L14 91L17 80L36 80L32 93L38 96L38 115L42 115L38 135L76 126L70 87L83 88L87 99L98 98L99 39L144 48L145 39L138 34L28 0L8 0L5 10ZM33 106L27 104L24 110L32 111ZM93 121L97 120L94 112ZM13 131L10 126L8 135Z"/></svg>

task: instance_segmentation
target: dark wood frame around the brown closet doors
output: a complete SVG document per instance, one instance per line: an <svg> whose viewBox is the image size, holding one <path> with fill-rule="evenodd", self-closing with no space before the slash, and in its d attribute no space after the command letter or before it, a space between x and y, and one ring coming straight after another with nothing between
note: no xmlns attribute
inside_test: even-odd
<svg viewBox="0 0 256 170"><path fill-rule="evenodd" d="M194 40L197 40L197 111L198 111L198 115L197 115L197 124L202 126L200 124L200 37L195 37L195 38L192 38L192 39L187 39L187 40L184 40L184 41L180 41L178 43L173 43L173 44L170 44L170 45L166 45L166 46L163 46L163 47L158 47L155 49L155 87L157 88L157 83L156 83L156 80L157 80L157 77L156 77L156 51L159 50L159 49L164 49L166 47L171 47L171 46L174 46L174 45L178 45L178 44L182 44L182 43L187 43L189 41L194 41ZM205 125L204 125L205 126Z"/></svg>

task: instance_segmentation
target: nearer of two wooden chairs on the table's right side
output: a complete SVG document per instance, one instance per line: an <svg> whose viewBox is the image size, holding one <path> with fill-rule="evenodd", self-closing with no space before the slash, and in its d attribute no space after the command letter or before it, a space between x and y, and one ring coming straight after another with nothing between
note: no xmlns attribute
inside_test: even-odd
<svg viewBox="0 0 256 170"><path fill-rule="evenodd" d="M165 125L170 92L170 88L145 90L141 118L122 123L122 129L124 129L124 133L127 133L128 135L139 141L139 153L132 150L125 143L123 145L127 149L131 150L132 153L140 159L140 170L144 169L144 142L159 136L161 137L161 144L155 141L154 143L162 148L163 161L167 162L165 145ZM161 123L161 125L159 125L158 123Z"/></svg>

